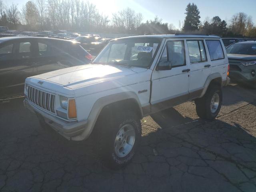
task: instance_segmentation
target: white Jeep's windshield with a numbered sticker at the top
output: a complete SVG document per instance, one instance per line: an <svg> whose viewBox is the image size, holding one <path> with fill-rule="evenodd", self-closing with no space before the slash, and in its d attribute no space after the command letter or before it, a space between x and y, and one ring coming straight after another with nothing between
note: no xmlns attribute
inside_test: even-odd
<svg viewBox="0 0 256 192"><path fill-rule="evenodd" d="M93 63L149 68L160 46L158 38L130 38L110 42Z"/></svg>

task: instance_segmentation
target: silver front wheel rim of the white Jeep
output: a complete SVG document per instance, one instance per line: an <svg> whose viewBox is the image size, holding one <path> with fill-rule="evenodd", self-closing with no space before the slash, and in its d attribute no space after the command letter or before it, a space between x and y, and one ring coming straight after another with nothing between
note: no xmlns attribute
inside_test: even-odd
<svg viewBox="0 0 256 192"><path fill-rule="evenodd" d="M120 128L116 134L114 150L118 157L125 157L132 150L135 142L135 129L131 124Z"/></svg>

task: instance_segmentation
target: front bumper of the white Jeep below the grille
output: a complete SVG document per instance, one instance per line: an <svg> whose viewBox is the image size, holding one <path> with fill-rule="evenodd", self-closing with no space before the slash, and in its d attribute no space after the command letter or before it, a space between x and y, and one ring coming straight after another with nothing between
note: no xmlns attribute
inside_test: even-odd
<svg viewBox="0 0 256 192"><path fill-rule="evenodd" d="M36 108L28 100L23 101L24 106L28 108L31 112L35 113L39 118L42 118L51 128L56 130L60 135L64 136L68 140L72 140L72 137L79 136L86 129L87 121L81 122L67 122L56 118L39 108Z"/></svg>

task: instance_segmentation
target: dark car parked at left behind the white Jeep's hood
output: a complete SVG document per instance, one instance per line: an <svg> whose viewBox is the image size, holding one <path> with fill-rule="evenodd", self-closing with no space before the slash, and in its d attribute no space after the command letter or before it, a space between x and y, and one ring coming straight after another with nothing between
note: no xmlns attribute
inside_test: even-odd
<svg viewBox="0 0 256 192"><path fill-rule="evenodd" d="M40 37L0 39L0 100L23 94L27 77L91 62L79 43Z"/></svg>

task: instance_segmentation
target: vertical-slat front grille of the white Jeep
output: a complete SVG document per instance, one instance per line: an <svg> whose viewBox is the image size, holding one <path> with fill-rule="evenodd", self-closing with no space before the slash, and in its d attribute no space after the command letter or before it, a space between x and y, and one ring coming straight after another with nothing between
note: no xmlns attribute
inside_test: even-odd
<svg viewBox="0 0 256 192"><path fill-rule="evenodd" d="M40 108L55 114L55 95L28 86L28 100Z"/></svg>

